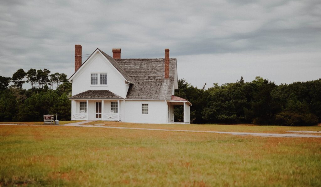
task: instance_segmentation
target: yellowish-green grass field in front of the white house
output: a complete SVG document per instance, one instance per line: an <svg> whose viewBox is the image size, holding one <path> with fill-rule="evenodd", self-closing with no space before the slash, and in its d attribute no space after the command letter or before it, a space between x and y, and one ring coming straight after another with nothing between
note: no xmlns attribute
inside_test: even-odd
<svg viewBox="0 0 321 187"><path fill-rule="evenodd" d="M242 128L246 132L274 132L274 128L285 132L294 128L151 126L234 132ZM0 126L0 166L0 185L321 186L321 138Z"/></svg>

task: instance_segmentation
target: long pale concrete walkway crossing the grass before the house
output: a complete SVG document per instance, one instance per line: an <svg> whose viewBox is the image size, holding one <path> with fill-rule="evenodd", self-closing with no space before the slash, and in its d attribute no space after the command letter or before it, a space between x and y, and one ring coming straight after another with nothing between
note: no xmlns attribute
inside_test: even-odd
<svg viewBox="0 0 321 187"><path fill-rule="evenodd" d="M134 129L134 130L152 130L152 131L175 131L175 132L193 132L193 133L233 134L233 135L243 135L243 136L244 135L250 135L250 136L263 136L263 137L321 138L321 135L311 135L311 134L221 132L221 131L196 131L196 130L173 130L173 129L153 129L153 128L134 128L134 127L117 127L117 126L82 125L82 124L93 122L93 121L94 120L88 120L88 121L82 121L82 122L76 122L76 123L69 123L69 124L65 124L65 125L30 125L30 126L78 126L78 127L96 127L96 128L113 128L113 129ZM0 125L18 125L18 124L0 124ZM27 126L27 125L24 125L24 126Z"/></svg>

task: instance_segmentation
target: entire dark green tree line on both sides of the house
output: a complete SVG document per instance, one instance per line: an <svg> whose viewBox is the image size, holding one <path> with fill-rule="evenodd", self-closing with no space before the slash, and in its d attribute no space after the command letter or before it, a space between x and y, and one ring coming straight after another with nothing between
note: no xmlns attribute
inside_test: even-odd
<svg viewBox="0 0 321 187"><path fill-rule="evenodd" d="M18 69L12 77L0 76L0 121L42 121L44 114L58 113L70 120L71 83L67 76L48 69ZM23 89L26 83L30 89ZM206 85L206 84L205 84ZM321 79L276 85L256 77L244 82L213 84L205 89L178 80L175 95L189 100L191 122L251 123L259 125L308 126L321 122ZM175 106L175 121L183 120L182 107Z"/></svg>

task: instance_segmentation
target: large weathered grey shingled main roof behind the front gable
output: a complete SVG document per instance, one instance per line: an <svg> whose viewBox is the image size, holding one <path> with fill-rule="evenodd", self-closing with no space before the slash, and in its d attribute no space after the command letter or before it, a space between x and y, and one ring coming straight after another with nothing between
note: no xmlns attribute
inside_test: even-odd
<svg viewBox="0 0 321 187"><path fill-rule="evenodd" d="M115 59L135 84L130 85L126 99L171 100L176 58L169 59L169 78L165 78L165 59Z"/></svg>

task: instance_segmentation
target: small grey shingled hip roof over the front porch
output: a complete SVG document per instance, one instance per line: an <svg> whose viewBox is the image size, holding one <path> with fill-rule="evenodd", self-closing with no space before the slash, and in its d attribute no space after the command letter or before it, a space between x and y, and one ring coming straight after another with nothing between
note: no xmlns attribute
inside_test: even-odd
<svg viewBox="0 0 321 187"><path fill-rule="evenodd" d="M87 90L68 99L124 99L109 90Z"/></svg>

